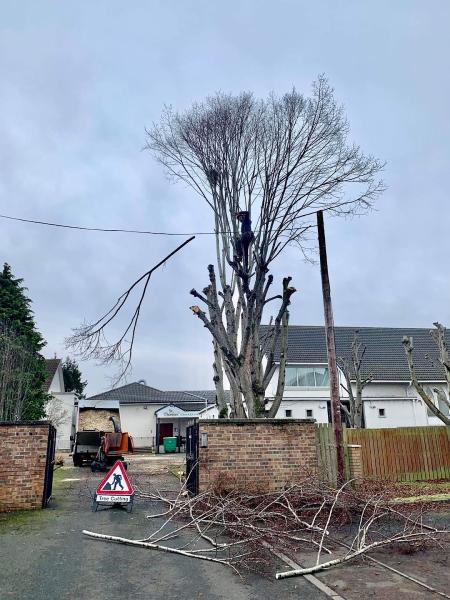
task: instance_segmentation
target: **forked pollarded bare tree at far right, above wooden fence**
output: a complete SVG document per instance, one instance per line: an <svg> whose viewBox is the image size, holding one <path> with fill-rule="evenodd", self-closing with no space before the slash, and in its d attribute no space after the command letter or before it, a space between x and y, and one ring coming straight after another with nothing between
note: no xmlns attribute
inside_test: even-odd
<svg viewBox="0 0 450 600"><path fill-rule="evenodd" d="M448 352L447 342L445 340L445 327L438 323L433 323L435 329L430 331L430 335L433 340L436 342L436 346L438 349L438 361L442 365L445 381L447 385L447 394L439 388L434 388L433 391L436 392L438 401L444 403L450 407L450 403L448 397L450 395L450 358ZM414 343L413 338L404 336L402 339L403 347L406 353L406 360L408 361L409 372L411 374L411 383L415 387L417 393L425 402L430 411L434 414L435 417L440 419L445 425L450 425L450 419L444 415L444 413L439 409L438 406L434 403L434 398L425 390L424 386L419 382L417 377L416 369L414 366L413 352L414 352Z"/></svg>

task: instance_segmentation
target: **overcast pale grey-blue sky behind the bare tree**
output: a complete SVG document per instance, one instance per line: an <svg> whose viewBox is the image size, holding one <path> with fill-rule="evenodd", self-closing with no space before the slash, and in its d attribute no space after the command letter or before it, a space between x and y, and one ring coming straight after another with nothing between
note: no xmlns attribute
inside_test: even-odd
<svg viewBox="0 0 450 600"><path fill-rule="evenodd" d="M327 219L335 322L450 325L448 0L105 0L1 3L0 212L85 226L211 228L200 200L169 183L144 128L163 105L217 90L306 93L325 73L352 138L387 161L377 211ZM47 356L99 316L171 238L88 233L0 219L1 261L25 279ZM210 339L191 316L214 259L196 239L155 275L131 380L212 387ZM298 288L293 324L321 324L317 266L289 251L276 275ZM105 369L82 363L88 393Z"/></svg>

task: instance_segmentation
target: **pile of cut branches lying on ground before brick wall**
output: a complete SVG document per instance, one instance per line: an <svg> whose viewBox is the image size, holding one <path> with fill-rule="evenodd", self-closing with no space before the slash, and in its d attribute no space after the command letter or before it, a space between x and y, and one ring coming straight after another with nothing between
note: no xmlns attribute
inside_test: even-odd
<svg viewBox="0 0 450 600"><path fill-rule="evenodd" d="M155 524L149 535L131 540L83 533L221 563L236 572L261 570L271 552L297 557L315 552L315 564L277 573L282 579L334 567L383 546L440 543L448 532L425 524L429 507L393 507L394 494L388 484L347 482L336 488L314 478L268 493L208 490L192 497L184 486L178 493L139 490L140 497L164 506L148 515Z"/></svg>

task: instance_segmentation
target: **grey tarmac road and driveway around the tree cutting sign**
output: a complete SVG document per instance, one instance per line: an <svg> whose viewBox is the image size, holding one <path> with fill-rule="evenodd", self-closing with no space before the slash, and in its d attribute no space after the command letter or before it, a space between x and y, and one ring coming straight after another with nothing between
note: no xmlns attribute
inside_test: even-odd
<svg viewBox="0 0 450 600"><path fill-rule="evenodd" d="M326 598L302 578L275 581L251 574L240 579L221 565L83 536L88 529L137 539L155 526L145 519L155 506L143 500L136 501L131 514L92 512L90 493L100 480L88 468L61 469L51 508L0 515L1 600Z"/></svg>

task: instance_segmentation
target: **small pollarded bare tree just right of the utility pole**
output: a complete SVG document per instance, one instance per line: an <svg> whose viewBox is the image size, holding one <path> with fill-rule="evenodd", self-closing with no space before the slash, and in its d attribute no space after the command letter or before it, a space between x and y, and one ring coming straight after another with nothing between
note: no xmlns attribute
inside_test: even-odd
<svg viewBox="0 0 450 600"><path fill-rule="evenodd" d="M363 360L367 347L359 338L359 331L353 335L350 358L340 356L338 365L345 378L341 386L348 394L349 408L341 402L341 408L347 416L350 427L363 426L363 391L373 380L373 373L364 374Z"/></svg>

